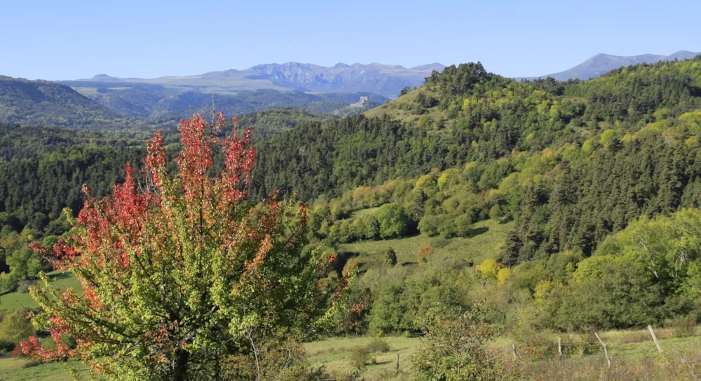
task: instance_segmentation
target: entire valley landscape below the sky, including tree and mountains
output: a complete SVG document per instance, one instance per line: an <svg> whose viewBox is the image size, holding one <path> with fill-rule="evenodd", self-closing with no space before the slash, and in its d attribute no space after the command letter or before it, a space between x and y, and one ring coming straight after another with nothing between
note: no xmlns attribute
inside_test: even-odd
<svg viewBox="0 0 701 381"><path fill-rule="evenodd" d="M682 53L0 77L0 379L695 380Z"/></svg>

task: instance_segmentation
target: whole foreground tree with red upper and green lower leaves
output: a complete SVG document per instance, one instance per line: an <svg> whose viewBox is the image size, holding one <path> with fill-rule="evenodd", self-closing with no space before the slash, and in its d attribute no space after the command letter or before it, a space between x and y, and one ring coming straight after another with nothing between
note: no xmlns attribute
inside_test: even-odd
<svg viewBox="0 0 701 381"><path fill-rule="evenodd" d="M53 288L46 278L31 290L43 307L34 323L55 345L31 337L21 344L25 354L78 358L118 380L210 379L227 357L257 361L256 345L273 331L279 338L280 328L318 318L325 298L319 280L335 255L303 254L303 203L275 194L256 206L245 202L254 163L250 128L218 138L225 121L221 114L214 120L181 122L171 176L156 132L146 184L137 185L128 168L104 199L85 186L72 236L51 249L34 246L72 272L83 293ZM217 147L224 170L215 176Z"/></svg>

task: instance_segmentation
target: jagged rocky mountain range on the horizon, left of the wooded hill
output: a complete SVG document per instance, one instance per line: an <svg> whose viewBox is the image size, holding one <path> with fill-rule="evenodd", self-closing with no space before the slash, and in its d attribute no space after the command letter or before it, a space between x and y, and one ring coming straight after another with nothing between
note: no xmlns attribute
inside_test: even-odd
<svg viewBox="0 0 701 381"><path fill-rule="evenodd" d="M372 63L323 67L299 62L266 64L249 69L229 69L189 76L162 76L153 79L116 78L98 74L78 81L149 83L165 87L207 88L208 91L236 92L271 89L297 90L312 93L374 93L395 98L406 86L420 86L433 70L444 68L439 63L416 67Z"/></svg>

